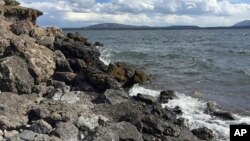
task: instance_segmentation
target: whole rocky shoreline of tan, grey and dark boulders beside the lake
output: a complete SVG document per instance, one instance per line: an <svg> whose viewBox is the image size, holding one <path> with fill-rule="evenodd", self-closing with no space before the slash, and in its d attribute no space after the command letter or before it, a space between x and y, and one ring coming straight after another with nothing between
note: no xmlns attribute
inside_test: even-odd
<svg viewBox="0 0 250 141"><path fill-rule="evenodd" d="M206 127L190 131L182 112L159 99L127 89L150 75L117 62L78 33L36 25L41 11L5 6L0 0L0 140L4 141L199 141L213 140ZM233 116L208 104L208 114Z"/></svg>

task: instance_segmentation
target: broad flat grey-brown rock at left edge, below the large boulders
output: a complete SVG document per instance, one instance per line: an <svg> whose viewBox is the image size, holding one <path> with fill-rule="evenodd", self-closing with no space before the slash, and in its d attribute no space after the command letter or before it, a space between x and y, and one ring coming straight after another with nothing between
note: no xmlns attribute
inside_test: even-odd
<svg viewBox="0 0 250 141"><path fill-rule="evenodd" d="M0 93L0 129L25 127L29 119L27 108L36 101L35 95Z"/></svg>

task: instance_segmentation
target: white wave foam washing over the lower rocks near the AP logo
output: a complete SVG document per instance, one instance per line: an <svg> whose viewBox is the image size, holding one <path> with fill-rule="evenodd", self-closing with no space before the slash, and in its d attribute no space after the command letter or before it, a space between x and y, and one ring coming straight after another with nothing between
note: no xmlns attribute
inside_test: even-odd
<svg viewBox="0 0 250 141"><path fill-rule="evenodd" d="M137 95L138 93L148 94L151 96L158 97L160 91L146 89L142 86L134 85L129 91L131 96ZM179 106L182 109L183 114L181 117L185 119L185 124L190 129L196 129L200 127L207 127L211 129L216 140L228 141L229 140L229 125L247 123L250 124L250 117L242 117L240 115L234 115L236 120L225 121L205 114L206 102L187 96L183 93L176 93L177 99L170 100L167 104L162 104L163 107L168 106L174 108Z"/></svg>

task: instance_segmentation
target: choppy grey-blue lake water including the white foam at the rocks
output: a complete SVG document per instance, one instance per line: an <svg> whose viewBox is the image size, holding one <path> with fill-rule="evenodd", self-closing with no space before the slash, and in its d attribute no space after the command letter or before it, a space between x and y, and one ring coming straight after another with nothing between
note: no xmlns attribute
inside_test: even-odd
<svg viewBox="0 0 250 141"><path fill-rule="evenodd" d="M99 41L106 63L124 61L152 74L148 86L137 92L157 96L173 89L187 126L214 129L218 140L228 140L229 124L250 124L250 30L82 30L91 42ZM203 113L206 101L215 101L237 113L229 122ZM164 106L164 105L163 105ZM245 116L239 116L244 114Z"/></svg>

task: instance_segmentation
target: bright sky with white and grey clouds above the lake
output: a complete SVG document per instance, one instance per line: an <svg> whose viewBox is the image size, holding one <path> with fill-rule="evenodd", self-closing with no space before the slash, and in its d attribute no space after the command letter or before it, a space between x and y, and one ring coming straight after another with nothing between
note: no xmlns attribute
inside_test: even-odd
<svg viewBox="0 0 250 141"><path fill-rule="evenodd" d="M19 0L44 12L41 26L96 23L231 26L250 19L250 0Z"/></svg>

